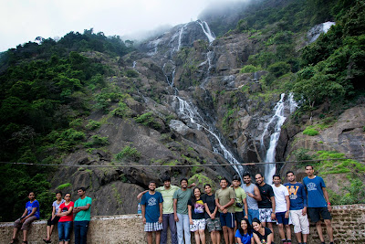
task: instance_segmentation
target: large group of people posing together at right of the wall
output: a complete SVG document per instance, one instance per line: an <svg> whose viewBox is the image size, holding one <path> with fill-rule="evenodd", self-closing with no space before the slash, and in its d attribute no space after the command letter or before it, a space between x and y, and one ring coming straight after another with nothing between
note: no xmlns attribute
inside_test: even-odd
<svg viewBox="0 0 365 244"><path fill-rule="evenodd" d="M163 186L157 188L151 181L149 189L137 196L141 199L147 241L151 244L155 233L156 243L167 243L170 228L172 244L190 244L191 232L197 244L205 244L207 228L214 244L220 243L221 231L225 244L275 244L273 223L276 222L282 243L291 244L290 217L298 243L307 244L309 217L316 224L323 244L322 217L330 244L333 244L326 185L320 176L314 175L313 165L306 166L306 173L308 176L301 184L294 173L288 171L284 185L280 175L274 175L274 184L268 185L259 173L255 175L254 184L247 173L243 175L241 186L241 178L235 175L231 186L222 178L221 188L215 194L209 184L203 186L205 194L202 194L194 184L188 186L186 178L181 179L181 187L172 186L169 176L164 177Z"/></svg>

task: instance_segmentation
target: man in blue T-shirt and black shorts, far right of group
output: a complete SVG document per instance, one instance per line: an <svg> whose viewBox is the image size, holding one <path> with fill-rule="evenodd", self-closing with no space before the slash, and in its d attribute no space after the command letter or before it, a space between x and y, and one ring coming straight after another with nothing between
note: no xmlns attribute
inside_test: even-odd
<svg viewBox="0 0 365 244"><path fill-rule="evenodd" d="M326 190L325 182L322 177L314 175L314 168L312 165L306 166L307 177L303 179L303 184L308 193L308 216L310 221L316 223L318 236L322 244L325 243L323 238L320 216L325 220L329 243L333 244L333 229L331 225L330 211L332 207L329 203L328 192Z"/></svg>

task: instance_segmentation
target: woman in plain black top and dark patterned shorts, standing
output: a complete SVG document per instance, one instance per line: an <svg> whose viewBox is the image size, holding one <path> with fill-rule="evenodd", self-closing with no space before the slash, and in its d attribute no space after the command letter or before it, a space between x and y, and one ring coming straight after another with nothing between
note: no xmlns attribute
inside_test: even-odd
<svg viewBox="0 0 365 244"><path fill-rule="evenodd" d="M212 192L212 186L205 184L205 194L202 196L202 200L205 207L205 223L208 231L211 233L211 239L213 244L221 243L221 221L219 220L218 207L215 205L215 196Z"/></svg>

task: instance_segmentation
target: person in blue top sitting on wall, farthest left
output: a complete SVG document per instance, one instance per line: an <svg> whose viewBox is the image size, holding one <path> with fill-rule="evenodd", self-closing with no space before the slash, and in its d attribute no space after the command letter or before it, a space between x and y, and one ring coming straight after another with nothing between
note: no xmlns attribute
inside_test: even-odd
<svg viewBox="0 0 365 244"><path fill-rule="evenodd" d="M16 233L19 228L23 230L23 244L27 244L26 234L30 225L36 219L39 219L39 203L36 200L36 194L34 192L29 192L29 201L26 203L26 210L24 211L22 217L16 219L14 222L13 238L10 243L16 243Z"/></svg>

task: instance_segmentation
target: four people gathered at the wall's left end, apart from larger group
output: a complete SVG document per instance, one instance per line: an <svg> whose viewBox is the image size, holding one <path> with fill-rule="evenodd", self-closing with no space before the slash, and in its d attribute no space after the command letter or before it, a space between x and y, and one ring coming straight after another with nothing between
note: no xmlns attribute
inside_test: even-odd
<svg viewBox="0 0 365 244"><path fill-rule="evenodd" d="M87 243L87 233L90 221L90 206L92 199L86 196L84 187L78 188L78 200L71 201L71 194L67 193L62 199L62 192L56 193L56 201L52 204L52 215L47 220L46 243L51 243L53 229L57 225L59 244L68 244L71 239L72 228L75 234L76 244ZM23 230L23 244L27 244L27 231L36 219L39 219L39 203L34 192L28 195L29 201L26 203L26 210L23 215L16 219L14 223L13 237L10 243L16 243L16 233Z"/></svg>

